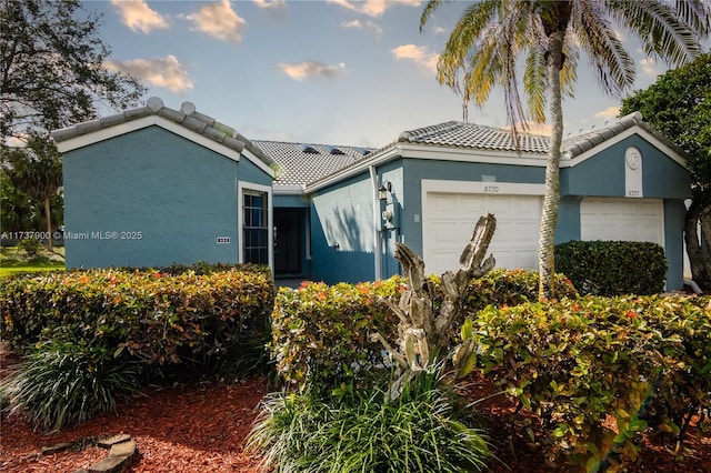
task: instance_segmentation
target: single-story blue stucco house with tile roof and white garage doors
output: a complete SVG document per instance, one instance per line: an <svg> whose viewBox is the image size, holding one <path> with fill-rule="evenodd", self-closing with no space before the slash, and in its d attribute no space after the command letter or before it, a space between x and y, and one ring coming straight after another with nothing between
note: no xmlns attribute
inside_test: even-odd
<svg viewBox="0 0 711 473"><path fill-rule="evenodd" d="M549 139L451 121L380 149L249 140L196 111L144 107L52 133L63 154L68 268L254 262L329 283L458 268L491 212L499 268L535 269ZM557 242L652 241L683 285L682 153L632 113L563 141Z"/></svg>

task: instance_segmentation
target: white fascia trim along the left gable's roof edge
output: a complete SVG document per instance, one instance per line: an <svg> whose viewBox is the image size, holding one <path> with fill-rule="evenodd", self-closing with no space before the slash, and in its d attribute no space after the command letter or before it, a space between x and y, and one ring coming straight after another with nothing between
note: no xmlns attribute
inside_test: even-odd
<svg viewBox="0 0 711 473"><path fill-rule="evenodd" d="M59 142L57 144L57 149L60 153L63 153L67 151L88 147L90 144L98 143L100 141L109 140L111 138L119 137L121 134L130 133L132 131L141 130L143 128L148 128L152 125L160 127L164 130L170 131L171 133L176 133L179 137L190 140L197 144L200 144L201 147L212 150L216 153L221 154L226 158L229 158L233 161L240 160L239 151L232 148L228 148L222 143L218 143L217 141L211 140L203 134L197 133L179 123L176 123L174 121L167 120L163 117L160 117L157 114L142 117L136 120L114 124L113 127L92 131L87 134L81 134L76 138L70 138L68 140ZM271 170L270 170L270 174L273 174Z"/></svg>

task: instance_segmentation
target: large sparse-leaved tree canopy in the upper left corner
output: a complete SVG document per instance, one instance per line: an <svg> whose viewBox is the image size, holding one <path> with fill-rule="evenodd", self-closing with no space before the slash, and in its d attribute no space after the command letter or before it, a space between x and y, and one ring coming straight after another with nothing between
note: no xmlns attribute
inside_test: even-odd
<svg viewBox="0 0 711 473"><path fill-rule="evenodd" d="M134 104L144 88L110 72L99 17L77 0L0 0L0 134L24 141Z"/></svg>

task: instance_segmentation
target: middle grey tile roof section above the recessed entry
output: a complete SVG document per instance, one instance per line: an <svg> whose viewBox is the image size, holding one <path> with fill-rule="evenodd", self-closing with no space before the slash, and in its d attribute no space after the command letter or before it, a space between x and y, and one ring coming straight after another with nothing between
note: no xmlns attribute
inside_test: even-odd
<svg viewBox="0 0 711 473"><path fill-rule="evenodd" d="M302 143L264 140L252 140L252 143L279 162L274 185L306 184L347 168L372 151L370 148L308 143L308 147L316 151L308 152L304 151L308 148Z"/></svg>

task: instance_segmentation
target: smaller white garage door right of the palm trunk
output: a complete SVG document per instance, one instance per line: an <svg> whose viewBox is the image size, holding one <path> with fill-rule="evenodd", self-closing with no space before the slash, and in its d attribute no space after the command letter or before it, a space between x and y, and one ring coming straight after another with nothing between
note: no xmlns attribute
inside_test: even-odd
<svg viewBox="0 0 711 473"><path fill-rule="evenodd" d="M658 199L583 199L580 239L650 241L664 245L662 201Z"/></svg>

